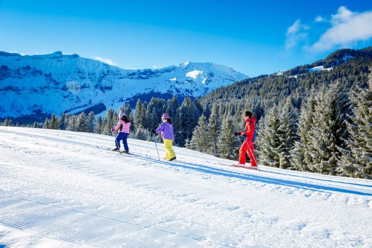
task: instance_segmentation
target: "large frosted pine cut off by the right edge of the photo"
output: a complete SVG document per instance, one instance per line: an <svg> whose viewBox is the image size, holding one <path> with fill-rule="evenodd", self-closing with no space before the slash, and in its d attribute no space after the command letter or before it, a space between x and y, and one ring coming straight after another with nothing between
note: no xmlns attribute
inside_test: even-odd
<svg viewBox="0 0 372 248"><path fill-rule="evenodd" d="M338 171L343 176L372 179L372 72L368 87L356 87L350 98L354 105L347 122L350 138L347 148L341 150Z"/></svg>

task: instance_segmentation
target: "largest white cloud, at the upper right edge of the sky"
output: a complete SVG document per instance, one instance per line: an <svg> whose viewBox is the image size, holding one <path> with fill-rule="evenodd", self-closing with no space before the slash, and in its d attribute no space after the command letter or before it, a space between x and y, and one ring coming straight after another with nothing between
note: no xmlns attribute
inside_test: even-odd
<svg viewBox="0 0 372 248"><path fill-rule="evenodd" d="M309 51L324 52L338 46L350 47L372 37L372 11L358 13L341 6L338 13L332 15L330 23L332 27L308 48Z"/></svg>

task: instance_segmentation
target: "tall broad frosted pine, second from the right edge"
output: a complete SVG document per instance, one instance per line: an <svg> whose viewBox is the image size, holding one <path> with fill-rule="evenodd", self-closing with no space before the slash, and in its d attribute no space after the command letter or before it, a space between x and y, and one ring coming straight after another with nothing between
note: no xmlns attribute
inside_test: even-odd
<svg viewBox="0 0 372 248"><path fill-rule="evenodd" d="M348 95L334 83L328 90L319 93L315 106L314 126L310 129L310 154L313 163L311 171L336 175L340 150L345 148L347 139L345 120L350 113Z"/></svg>

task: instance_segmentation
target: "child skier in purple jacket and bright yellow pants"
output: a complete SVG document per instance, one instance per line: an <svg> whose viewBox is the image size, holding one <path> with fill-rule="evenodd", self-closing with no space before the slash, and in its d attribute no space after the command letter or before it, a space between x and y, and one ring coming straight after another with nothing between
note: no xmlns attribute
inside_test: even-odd
<svg viewBox="0 0 372 248"><path fill-rule="evenodd" d="M156 130L151 130L153 134L162 133L162 139L164 140L164 145L166 147L166 159L172 161L176 159L176 155L172 148L173 142L173 125L167 114L162 116L163 123Z"/></svg>

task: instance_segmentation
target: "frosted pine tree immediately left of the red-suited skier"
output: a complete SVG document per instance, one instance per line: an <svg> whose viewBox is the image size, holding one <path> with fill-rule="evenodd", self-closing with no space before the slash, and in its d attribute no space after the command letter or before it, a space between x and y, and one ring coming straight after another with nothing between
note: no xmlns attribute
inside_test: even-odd
<svg viewBox="0 0 372 248"><path fill-rule="evenodd" d="M234 135L235 123L233 117L227 116L222 124L218 138L218 153L222 158L237 159L237 138Z"/></svg>

